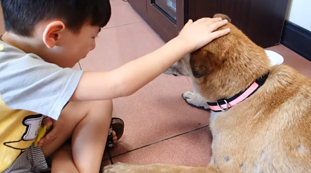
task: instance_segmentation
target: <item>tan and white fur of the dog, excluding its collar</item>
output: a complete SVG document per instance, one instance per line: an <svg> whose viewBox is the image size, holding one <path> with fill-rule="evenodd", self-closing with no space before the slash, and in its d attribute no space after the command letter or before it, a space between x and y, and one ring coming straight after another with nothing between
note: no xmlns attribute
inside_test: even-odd
<svg viewBox="0 0 311 173"><path fill-rule="evenodd" d="M216 15L228 18L225 15ZM212 113L212 158L208 167L117 163L104 172L311 172L311 80L286 65L270 66L264 50L235 26L186 55L166 73L186 75L194 92L188 103L208 108L245 90L269 71L252 96L227 112Z"/></svg>

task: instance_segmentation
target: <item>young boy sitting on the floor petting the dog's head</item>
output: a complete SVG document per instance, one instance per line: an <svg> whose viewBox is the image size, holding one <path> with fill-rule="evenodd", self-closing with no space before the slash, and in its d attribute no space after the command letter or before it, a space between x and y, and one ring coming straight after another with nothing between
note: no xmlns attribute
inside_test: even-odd
<svg viewBox="0 0 311 173"><path fill-rule="evenodd" d="M111 99L133 94L183 55L229 33L213 32L227 23L220 18L189 21L158 50L112 71L88 72L70 67L95 48L110 18L108 0L1 4L7 33L0 41L0 172L39 172L47 157L52 172L98 172ZM35 147L43 115L57 121ZM71 145L63 145L69 137Z"/></svg>

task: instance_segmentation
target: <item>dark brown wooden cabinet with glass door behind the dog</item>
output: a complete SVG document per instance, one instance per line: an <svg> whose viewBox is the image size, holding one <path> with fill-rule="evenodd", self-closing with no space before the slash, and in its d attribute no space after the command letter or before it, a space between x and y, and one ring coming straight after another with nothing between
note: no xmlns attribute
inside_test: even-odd
<svg viewBox="0 0 311 173"><path fill-rule="evenodd" d="M288 0L128 0L165 41L189 20L228 15L232 23L262 47L279 44ZM175 11L175 16L170 9ZM173 16L173 17L172 17Z"/></svg>

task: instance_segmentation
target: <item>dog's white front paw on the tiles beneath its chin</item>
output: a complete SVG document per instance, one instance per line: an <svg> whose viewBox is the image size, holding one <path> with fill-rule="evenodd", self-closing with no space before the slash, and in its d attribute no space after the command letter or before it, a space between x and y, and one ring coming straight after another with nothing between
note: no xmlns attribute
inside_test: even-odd
<svg viewBox="0 0 311 173"><path fill-rule="evenodd" d="M204 107L204 109L210 109L207 105L206 100L199 94L193 92L185 92L183 98L186 100L187 103L194 105L196 107Z"/></svg>

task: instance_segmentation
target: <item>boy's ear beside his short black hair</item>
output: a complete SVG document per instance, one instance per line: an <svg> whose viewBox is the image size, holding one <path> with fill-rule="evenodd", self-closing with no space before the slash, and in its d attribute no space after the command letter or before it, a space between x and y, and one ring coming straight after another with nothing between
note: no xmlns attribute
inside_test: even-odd
<svg viewBox="0 0 311 173"><path fill-rule="evenodd" d="M65 24L62 21L49 23L43 32L43 42L48 48L53 48L61 38Z"/></svg>

